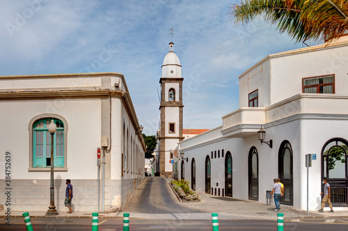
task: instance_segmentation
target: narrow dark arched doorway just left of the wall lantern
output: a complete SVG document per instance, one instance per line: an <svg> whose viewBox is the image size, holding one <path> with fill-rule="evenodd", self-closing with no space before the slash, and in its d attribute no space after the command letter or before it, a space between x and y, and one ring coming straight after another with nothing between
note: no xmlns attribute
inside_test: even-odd
<svg viewBox="0 0 348 231"><path fill-rule="evenodd" d="M259 199L259 159L258 150L252 147L248 155L249 199Z"/></svg>

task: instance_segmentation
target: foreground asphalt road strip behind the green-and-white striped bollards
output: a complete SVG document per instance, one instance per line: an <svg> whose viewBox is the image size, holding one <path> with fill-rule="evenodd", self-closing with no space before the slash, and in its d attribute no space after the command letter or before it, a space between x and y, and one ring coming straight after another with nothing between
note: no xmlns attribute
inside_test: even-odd
<svg viewBox="0 0 348 231"><path fill-rule="evenodd" d="M0 221L1 222L1 221ZM91 219L32 219L33 230L92 230ZM131 219L130 230L212 230L212 221ZM121 219L100 219L99 230L122 230ZM348 219L285 221L285 230L348 230ZM0 230L26 230L23 219L12 219L11 225L0 223ZM276 221L222 220L219 230L277 230Z"/></svg>

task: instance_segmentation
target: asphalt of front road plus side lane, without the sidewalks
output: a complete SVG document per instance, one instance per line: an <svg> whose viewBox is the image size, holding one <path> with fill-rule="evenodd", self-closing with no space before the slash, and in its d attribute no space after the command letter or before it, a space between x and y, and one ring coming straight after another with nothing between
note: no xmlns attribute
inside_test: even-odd
<svg viewBox="0 0 348 231"><path fill-rule="evenodd" d="M200 213L198 209L184 207L179 203L165 178L146 178L132 201L125 207L125 212L144 214ZM237 213L238 211L236 211ZM187 214L189 216L189 214ZM99 230L122 230L122 217L117 219L100 219ZM26 230L24 220L11 219L11 225L6 225L5 219L0 219L0 230ZM77 219L69 217L32 218L33 230L92 230L92 219ZM133 219L129 221L130 230L212 230L212 220L193 219ZM348 230L348 218L345 219L285 219L284 228L292 230ZM219 230L277 230L276 220L219 220Z"/></svg>

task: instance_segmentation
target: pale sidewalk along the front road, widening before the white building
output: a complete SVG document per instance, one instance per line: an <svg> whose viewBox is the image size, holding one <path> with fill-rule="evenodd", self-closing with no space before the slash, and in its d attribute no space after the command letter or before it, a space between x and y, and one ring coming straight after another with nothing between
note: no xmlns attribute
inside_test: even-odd
<svg viewBox="0 0 348 231"><path fill-rule="evenodd" d="M168 182L172 179L167 178ZM180 203L188 209L198 209L202 212L190 213L189 210L180 213L168 214L148 214L148 213L130 213L130 218L134 219L212 219L212 212L219 214L219 219L271 219L277 217L278 212L275 212L274 201L271 200L271 205L264 205L251 200L236 200L234 198L212 196L209 194L199 194L200 202L195 203ZM280 212L284 214L285 220L294 219L338 219L348 218L348 211L335 211L329 213L329 208L325 208L323 213L317 211L307 212L303 210L292 209L291 206L281 205ZM191 210L190 210L191 211ZM1 211L0 219L5 218L5 212ZM22 218L24 212L29 212L31 218L54 218L54 219L92 219L92 213L88 212L72 212L66 214L65 211L57 216L46 216L45 212L30 212L30 211L11 211L11 217ZM125 211L127 212L127 211ZM123 212L100 212L100 219L122 219Z"/></svg>

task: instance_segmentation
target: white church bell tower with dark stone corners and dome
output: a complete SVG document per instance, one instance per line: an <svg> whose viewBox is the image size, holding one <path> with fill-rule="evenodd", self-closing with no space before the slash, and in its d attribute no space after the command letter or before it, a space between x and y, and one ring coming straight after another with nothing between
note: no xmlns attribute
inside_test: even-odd
<svg viewBox="0 0 348 231"><path fill-rule="evenodd" d="M172 173L171 160L177 143L182 141L182 81L180 60L174 53L174 43L169 43L169 52L162 65L161 84L161 128L159 136L159 171L161 176Z"/></svg>

